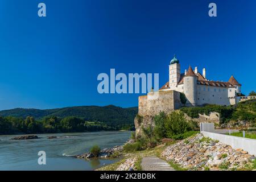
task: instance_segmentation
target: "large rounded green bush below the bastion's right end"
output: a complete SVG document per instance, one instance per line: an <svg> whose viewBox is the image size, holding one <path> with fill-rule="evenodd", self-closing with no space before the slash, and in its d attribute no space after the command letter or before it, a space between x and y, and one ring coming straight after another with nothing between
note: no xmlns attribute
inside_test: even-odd
<svg viewBox="0 0 256 182"><path fill-rule="evenodd" d="M166 135L169 138L191 130L191 126L186 121L184 113L179 111L174 111L167 116L164 127L166 129Z"/></svg>

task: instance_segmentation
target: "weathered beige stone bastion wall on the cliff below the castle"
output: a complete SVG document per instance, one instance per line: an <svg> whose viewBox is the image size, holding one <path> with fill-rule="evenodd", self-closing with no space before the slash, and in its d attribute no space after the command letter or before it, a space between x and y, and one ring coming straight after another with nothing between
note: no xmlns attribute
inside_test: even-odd
<svg viewBox="0 0 256 182"><path fill-rule="evenodd" d="M156 115L162 111L170 113L181 105L180 93L175 90L150 92L139 97L139 115Z"/></svg>

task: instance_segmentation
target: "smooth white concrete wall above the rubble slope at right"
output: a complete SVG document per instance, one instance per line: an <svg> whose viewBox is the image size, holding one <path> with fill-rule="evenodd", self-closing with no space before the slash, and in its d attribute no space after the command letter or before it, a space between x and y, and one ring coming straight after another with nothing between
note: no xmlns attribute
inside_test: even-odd
<svg viewBox="0 0 256 182"><path fill-rule="evenodd" d="M201 131L204 137L209 137L214 140L219 140L221 143L228 144L232 148L242 148L251 155L256 155L256 140L250 138L234 137L231 135L210 133L207 131Z"/></svg>

